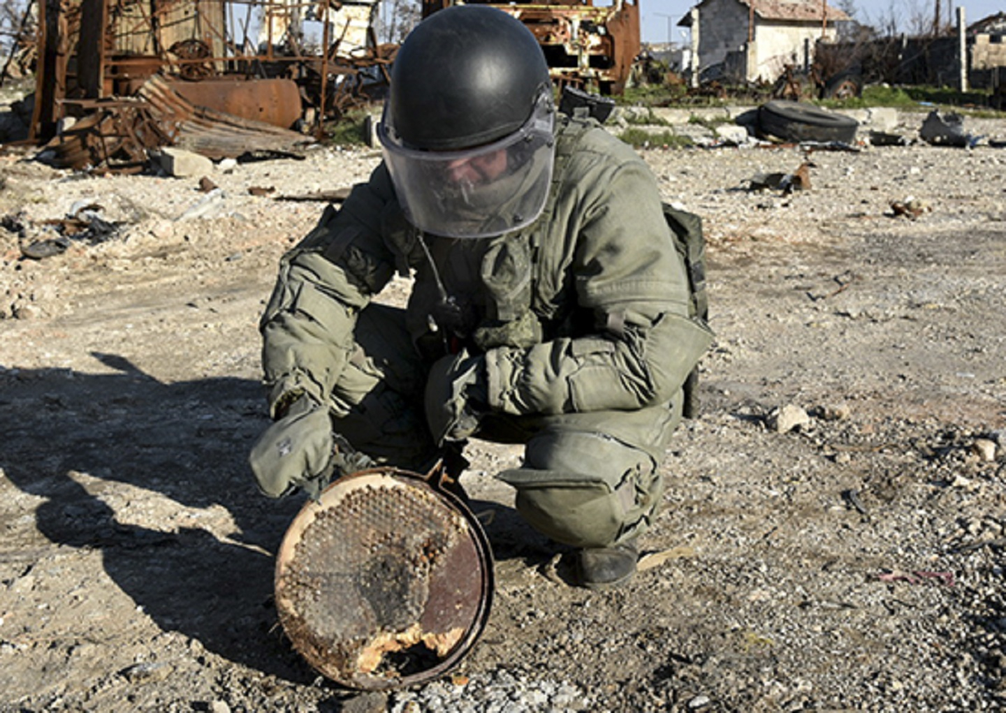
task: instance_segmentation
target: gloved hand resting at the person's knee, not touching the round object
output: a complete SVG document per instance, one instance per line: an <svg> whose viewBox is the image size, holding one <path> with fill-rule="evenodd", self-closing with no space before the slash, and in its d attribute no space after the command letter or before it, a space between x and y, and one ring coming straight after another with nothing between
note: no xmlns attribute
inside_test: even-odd
<svg viewBox="0 0 1006 713"><path fill-rule="evenodd" d="M464 440L489 410L486 358L467 350L434 363L427 379L427 423L438 445Z"/></svg>

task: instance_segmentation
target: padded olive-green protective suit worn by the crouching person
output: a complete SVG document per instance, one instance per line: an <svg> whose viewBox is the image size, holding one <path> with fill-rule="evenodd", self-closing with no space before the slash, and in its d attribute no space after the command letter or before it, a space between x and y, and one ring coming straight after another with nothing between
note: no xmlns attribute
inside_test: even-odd
<svg viewBox="0 0 1006 713"><path fill-rule="evenodd" d="M517 489L532 526L578 547L652 522L681 387L712 335L644 161L595 122L560 117L548 201L494 238L418 234L383 164L284 256L262 319L273 414L307 393L378 463L422 468L430 365L485 356L476 435L526 443ZM397 272L404 310L371 303Z"/></svg>

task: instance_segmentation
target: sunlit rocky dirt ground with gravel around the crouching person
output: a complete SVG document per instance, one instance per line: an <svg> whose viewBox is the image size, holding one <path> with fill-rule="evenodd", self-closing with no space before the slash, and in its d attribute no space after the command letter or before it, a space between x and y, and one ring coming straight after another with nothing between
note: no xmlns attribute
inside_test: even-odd
<svg viewBox="0 0 1006 713"><path fill-rule="evenodd" d="M519 450L473 442L483 638L442 681L355 694L277 626L302 500L260 496L245 456L267 424L256 322L322 208L283 198L377 154L217 167L206 194L4 151L0 711L1001 710L1006 150L644 155L705 219L718 335L648 568L567 586L492 479ZM805 161L809 190L749 190ZM74 212L89 231L62 239ZM25 257L38 241L61 251Z"/></svg>

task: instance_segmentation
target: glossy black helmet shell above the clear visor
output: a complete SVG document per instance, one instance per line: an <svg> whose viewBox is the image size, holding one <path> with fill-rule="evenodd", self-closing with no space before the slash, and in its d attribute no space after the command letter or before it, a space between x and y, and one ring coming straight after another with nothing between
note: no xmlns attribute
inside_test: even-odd
<svg viewBox="0 0 1006 713"><path fill-rule="evenodd" d="M502 10L456 5L405 37L389 119L411 148L466 149L519 129L542 93L551 97L548 64L531 31Z"/></svg>

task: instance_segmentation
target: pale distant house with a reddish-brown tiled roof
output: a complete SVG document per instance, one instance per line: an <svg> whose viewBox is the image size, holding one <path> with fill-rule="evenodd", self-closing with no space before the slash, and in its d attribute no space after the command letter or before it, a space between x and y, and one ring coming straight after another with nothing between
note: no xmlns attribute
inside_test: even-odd
<svg viewBox="0 0 1006 713"><path fill-rule="evenodd" d="M814 43L850 20L824 0L702 0L678 24L691 28L703 78L772 81L786 64L810 64Z"/></svg>

